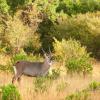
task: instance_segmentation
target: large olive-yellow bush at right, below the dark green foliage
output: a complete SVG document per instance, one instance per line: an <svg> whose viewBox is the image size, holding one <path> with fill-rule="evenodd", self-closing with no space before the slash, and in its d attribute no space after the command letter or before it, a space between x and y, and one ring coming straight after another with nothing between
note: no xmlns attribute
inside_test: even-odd
<svg viewBox="0 0 100 100"><path fill-rule="evenodd" d="M58 16L59 24L55 25L57 32L54 34L58 40L69 39L70 37L79 40L85 45L88 52L92 52L92 56L99 58L100 45L100 12L78 14L76 16L66 16L61 14Z"/></svg>

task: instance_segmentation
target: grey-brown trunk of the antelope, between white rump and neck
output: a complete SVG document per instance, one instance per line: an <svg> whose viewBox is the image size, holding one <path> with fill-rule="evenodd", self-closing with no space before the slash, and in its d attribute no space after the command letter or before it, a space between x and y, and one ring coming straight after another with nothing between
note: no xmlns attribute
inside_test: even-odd
<svg viewBox="0 0 100 100"><path fill-rule="evenodd" d="M25 75L39 76L42 73L43 62L19 61L16 63L16 68Z"/></svg>

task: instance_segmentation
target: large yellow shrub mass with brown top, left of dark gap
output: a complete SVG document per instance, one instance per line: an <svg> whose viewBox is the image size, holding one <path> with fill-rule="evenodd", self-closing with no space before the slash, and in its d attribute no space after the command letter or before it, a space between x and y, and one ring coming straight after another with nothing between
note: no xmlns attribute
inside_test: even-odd
<svg viewBox="0 0 100 100"><path fill-rule="evenodd" d="M10 54L15 48L33 52L41 46L40 35L36 33L40 19L38 10L34 9L34 5L29 5L18 10L13 17L0 15L0 45Z"/></svg>

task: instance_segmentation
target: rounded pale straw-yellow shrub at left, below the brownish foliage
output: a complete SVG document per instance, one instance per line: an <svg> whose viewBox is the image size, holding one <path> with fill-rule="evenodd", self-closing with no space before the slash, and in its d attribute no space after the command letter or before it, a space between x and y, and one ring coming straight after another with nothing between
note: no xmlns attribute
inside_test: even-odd
<svg viewBox="0 0 100 100"><path fill-rule="evenodd" d="M11 47L23 47L29 38L27 35L30 32L29 27L23 25L23 22L17 17L17 15L12 18L9 18L6 21L7 28L5 29L5 38L8 40L8 43Z"/></svg>

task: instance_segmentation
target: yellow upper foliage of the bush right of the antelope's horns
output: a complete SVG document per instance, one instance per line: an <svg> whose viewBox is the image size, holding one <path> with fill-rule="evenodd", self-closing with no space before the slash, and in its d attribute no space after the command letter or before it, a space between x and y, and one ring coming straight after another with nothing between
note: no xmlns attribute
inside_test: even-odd
<svg viewBox="0 0 100 100"><path fill-rule="evenodd" d="M69 39L65 40L62 39L62 41L58 41L54 38L54 50L55 50L55 56L59 57L61 60L68 60L69 58L79 58L86 55L86 57L89 56L89 54L86 51L85 47L82 47L79 41Z"/></svg>

